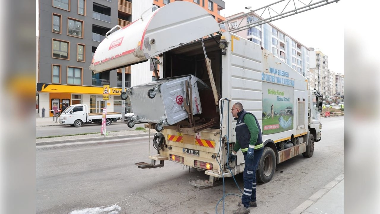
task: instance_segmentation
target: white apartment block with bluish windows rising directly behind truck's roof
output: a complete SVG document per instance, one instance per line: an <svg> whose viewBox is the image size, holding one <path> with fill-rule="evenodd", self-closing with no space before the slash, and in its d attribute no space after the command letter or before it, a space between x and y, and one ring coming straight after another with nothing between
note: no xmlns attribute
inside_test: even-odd
<svg viewBox="0 0 380 214"><path fill-rule="evenodd" d="M239 17L239 15L242 14L244 13L238 13L226 17L226 19L231 19L231 21L227 23L228 26L223 26L224 29L233 30L238 27L240 23L240 26L243 26L258 21L259 16L255 13ZM272 51L275 56L278 56L283 62L293 67L294 70L301 73L304 77L309 76L310 49L275 27L273 24L266 23L256 27L249 27L236 32L236 34L243 38L247 38L266 50Z"/></svg>

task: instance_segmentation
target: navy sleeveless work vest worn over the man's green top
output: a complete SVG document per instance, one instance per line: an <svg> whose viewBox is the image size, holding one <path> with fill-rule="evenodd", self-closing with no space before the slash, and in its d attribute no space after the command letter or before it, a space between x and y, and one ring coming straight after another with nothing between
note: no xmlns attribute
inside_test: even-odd
<svg viewBox="0 0 380 214"><path fill-rule="evenodd" d="M237 114L238 114L238 118L235 118L235 120L237 120L236 128L235 128L236 138L237 138L237 141L239 142L239 144L241 146L241 149L246 149L249 147L249 141L251 139L251 133L248 129L248 126L244 122L244 116L245 116L245 114L251 114L251 115L253 115L253 114L250 112L246 112L244 109ZM256 125L257 125L258 131L259 131L255 145L260 145L263 143L263 137L261 135L260 125L259 125L259 122L257 121L255 115L253 115L253 118L255 118ZM261 147L261 148L263 148L263 147Z"/></svg>

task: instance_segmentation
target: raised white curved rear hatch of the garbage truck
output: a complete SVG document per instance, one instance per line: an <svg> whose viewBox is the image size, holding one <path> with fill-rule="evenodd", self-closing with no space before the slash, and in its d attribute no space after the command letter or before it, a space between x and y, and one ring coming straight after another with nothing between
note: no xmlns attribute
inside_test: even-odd
<svg viewBox="0 0 380 214"><path fill-rule="evenodd" d="M93 55L90 70L100 73L146 61L165 51L205 37L220 28L206 10L191 2L169 3L109 34Z"/></svg>

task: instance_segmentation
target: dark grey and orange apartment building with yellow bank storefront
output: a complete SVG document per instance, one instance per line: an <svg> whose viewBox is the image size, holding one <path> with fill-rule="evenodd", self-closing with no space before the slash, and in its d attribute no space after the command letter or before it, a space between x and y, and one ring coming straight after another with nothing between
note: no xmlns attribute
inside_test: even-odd
<svg viewBox="0 0 380 214"><path fill-rule="evenodd" d="M87 104L90 112L122 112L122 85L131 87L152 81L149 62L93 74L92 56L107 32L125 27L140 18L152 5L173 0L39 0L37 96L38 108L52 109L71 104ZM221 0L189 1L209 11L217 21L224 18ZM122 83L122 75L125 82ZM103 100L103 85L110 85L109 100ZM105 105L107 103L107 105ZM128 104L126 104L128 105ZM52 112L45 113L51 117Z"/></svg>

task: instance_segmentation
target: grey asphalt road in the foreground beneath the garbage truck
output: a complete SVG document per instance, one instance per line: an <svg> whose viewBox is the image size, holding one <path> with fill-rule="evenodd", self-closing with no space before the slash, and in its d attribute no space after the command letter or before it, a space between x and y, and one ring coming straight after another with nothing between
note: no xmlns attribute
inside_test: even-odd
<svg viewBox="0 0 380 214"><path fill-rule="evenodd" d="M322 141L315 143L313 157L298 155L278 164L273 179L258 184L258 207L251 208L251 213L288 214L344 173L344 117L321 121ZM147 139L107 143L37 147L36 213L215 213L223 185L199 190L188 183L208 180L203 171L172 161L165 161L163 168L139 169L134 163L149 161ZM242 175L235 178L242 188ZM225 179L224 190L241 195L233 178ZM218 213L231 213L240 200L226 196L224 212L220 202Z"/></svg>

